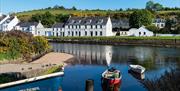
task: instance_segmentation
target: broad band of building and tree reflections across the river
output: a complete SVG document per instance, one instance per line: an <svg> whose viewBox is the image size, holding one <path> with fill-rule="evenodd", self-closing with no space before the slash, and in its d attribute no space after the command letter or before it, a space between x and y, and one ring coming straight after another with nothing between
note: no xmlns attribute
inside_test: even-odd
<svg viewBox="0 0 180 91"><path fill-rule="evenodd" d="M85 44L52 44L54 51L75 55L79 60L75 64L107 65L113 63L140 64L147 70L157 69L159 65L172 67L180 62L178 48L158 48L142 46L109 46ZM107 63L108 62L108 63ZM156 64L156 65L155 65Z"/></svg>

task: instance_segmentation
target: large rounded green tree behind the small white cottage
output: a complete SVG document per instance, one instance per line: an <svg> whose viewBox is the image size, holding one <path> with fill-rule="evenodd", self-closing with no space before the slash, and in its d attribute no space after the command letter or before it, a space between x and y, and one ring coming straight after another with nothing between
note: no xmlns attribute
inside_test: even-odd
<svg viewBox="0 0 180 91"><path fill-rule="evenodd" d="M142 25L151 25L153 19L153 14L148 10L138 10L134 11L130 15L129 23L133 28L139 28Z"/></svg>

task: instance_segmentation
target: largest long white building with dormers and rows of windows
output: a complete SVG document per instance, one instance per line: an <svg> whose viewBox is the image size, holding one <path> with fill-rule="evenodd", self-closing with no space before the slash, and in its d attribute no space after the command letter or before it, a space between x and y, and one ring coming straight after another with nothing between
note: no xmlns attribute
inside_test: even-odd
<svg viewBox="0 0 180 91"><path fill-rule="evenodd" d="M70 17L65 36L114 36L110 17Z"/></svg>

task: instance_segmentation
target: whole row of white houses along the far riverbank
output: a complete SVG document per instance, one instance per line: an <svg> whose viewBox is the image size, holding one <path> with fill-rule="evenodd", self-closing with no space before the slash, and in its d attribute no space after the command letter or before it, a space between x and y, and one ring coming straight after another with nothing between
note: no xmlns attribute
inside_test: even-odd
<svg viewBox="0 0 180 91"><path fill-rule="evenodd" d="M164 22L164 21L163 21ZM163 27L162 22L154 23ZM127 29L118 30L116 29ZM145 27L129 29L128 19L111 19L110 17L69 17L66 23L56 23L45 28L39 22L21 22L16 16L0 14L0 31L21 30L34 36L153 36Z"/></svg>

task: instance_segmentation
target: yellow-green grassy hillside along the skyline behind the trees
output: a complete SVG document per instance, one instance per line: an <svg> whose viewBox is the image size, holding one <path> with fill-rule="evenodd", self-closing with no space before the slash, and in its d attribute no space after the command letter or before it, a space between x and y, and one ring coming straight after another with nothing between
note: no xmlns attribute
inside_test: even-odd
<svg viewBox="0 0 180 91"><path fill-rule="evenodd" d="M34 14L42 14L49 11L53 15L69 14L73 16L113 16L113 17L128 17L133 11L118 11L118 10L72 10L72 9L39 9L32 11L18 12L16 15L20 20L27 21ZM180 10L158 11L157 14L166 16L173 14L180 14ZM157 15L156 14L156 15Z"/></svg>

